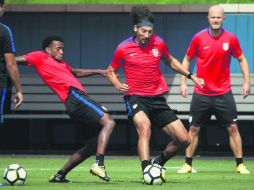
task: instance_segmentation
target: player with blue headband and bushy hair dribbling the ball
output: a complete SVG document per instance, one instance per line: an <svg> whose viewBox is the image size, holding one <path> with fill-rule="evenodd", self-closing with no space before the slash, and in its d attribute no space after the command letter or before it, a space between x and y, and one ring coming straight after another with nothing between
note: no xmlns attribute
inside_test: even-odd
<svg viewBox="0 0 254 190"><path fill-rule="evenodd" d="M159 157L161 165L190 143L187 130L163 96L168 92L168 87L160 71L160 60L164 60L168 66L187 76L200 87L204 85L204 81L184 69L169 53L166 43L153 34L154 17L147 7L134 6L131 16L135 35L117 47L108 67L107 77L116 89L124 93L128 116L139 136L137 148L144 170L151 164L149 141L152 125L172 138L172 142ZM126 75L124 83L119 81L116 74L121 66ZM154 160L152 162L154 163Z"/></svg>

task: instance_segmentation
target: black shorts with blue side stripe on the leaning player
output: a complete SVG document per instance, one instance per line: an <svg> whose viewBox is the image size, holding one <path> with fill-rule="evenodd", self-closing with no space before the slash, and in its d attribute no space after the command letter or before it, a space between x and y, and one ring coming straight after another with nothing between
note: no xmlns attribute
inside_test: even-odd
<svg viewBox="0 0 254 190"><path fill-rule="evenodd" d="M107 108L91 99L85 92L70 88L65 103L67 113L77 124L101 125L100 119Z"/></svg>

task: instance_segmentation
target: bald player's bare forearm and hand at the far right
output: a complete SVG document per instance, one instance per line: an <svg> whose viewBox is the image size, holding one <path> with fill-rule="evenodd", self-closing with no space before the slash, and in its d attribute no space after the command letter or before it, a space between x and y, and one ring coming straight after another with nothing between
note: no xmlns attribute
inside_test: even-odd
<svg viewBox="0 0 254 190"><path fill-rule="evenodd" d="M243 86L242 86L242 95L243 98L246 98L250 94L250 71L248 61L245 56L242 54L237 58L240 63L240 68L243 73Z"/></svg>

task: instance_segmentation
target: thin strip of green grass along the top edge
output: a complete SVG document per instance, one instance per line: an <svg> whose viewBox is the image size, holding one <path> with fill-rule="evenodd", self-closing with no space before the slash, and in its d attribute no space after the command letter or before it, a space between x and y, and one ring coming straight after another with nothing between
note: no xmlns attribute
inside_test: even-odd
<svg viewBox="0 0 254 190"><path fill-rule="evenodd" d="M254 3L254 0L7 0L11 4L194 4Z"/></svg>

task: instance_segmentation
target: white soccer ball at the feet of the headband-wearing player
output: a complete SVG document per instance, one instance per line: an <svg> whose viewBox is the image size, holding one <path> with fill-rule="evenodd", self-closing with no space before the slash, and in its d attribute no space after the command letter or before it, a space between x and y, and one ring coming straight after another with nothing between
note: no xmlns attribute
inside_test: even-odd
<svg viewBox="0 0 254 190"><path fill-rule="evenodd" d="M161 185L165 182L166 171L158 164L151 164L144 169L143 176L145 184Z"/></svg>

